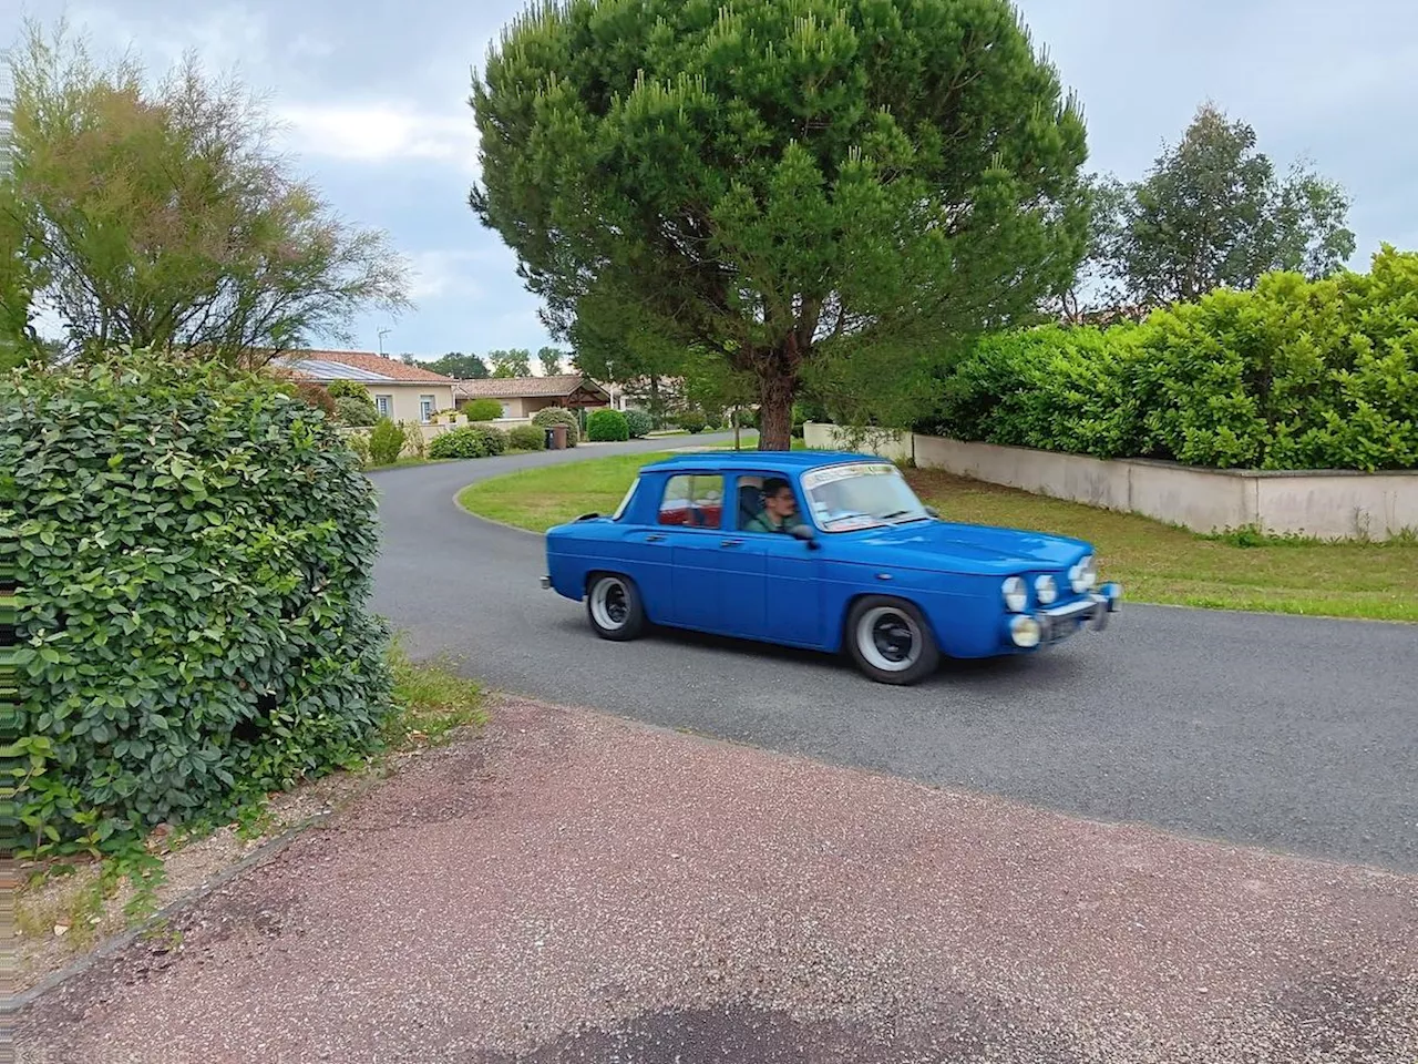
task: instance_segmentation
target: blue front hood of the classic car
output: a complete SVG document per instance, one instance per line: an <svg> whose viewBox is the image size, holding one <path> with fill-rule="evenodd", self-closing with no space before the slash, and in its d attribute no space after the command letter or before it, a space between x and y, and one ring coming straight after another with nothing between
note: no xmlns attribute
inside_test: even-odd
<svg viewBox="0 0 1418 1064"><path fill-rule="evenodd" d="M993 525L959 525L949 521L915 521L875 529L864 542L886 548L900 565L947 566L966 573L1001 573L1065 569L1092 548L1082 539L1024 532Z"/></svg>

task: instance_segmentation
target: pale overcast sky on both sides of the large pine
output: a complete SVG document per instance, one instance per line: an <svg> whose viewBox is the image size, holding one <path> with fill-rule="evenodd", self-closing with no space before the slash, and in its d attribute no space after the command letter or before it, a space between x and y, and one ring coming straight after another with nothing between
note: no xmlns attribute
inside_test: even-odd
<svg viewBox="0 0 1418 1064"><path fill-rule="evenodd" d="M467 204L469 67L522 0L0 0L0 38L67 13L99 50L155 72L186 48L269 91L298 165L347 218L387 230L417 309L357 323L356 346L437 358L549 342L515 260ZM1354 200L1354 265L1418 248L1418 3L1022 0L1034 40L1083 99L1089 169L1141 174L1212 99Z"/></svg>

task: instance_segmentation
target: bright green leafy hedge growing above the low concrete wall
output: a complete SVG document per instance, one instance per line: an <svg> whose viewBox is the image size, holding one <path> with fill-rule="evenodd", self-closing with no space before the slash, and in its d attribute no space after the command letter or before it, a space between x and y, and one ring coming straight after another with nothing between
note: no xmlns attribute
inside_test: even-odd
<svg viewBox="0 0 1418 1064"><path fill-rule="evenodd" d="M1269 274L1136 326L988 336L920 431L1212 468L1418 467L1418 254Z"/></svg>

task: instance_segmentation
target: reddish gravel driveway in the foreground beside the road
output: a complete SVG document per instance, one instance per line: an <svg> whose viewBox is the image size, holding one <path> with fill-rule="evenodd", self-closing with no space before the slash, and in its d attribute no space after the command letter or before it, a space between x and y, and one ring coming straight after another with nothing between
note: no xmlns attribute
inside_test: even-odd
<svg viewBox="0 0 1418 1064"><path fill-rule="evenodd" d="M21 1060L1418 1054L1418 877L498 706L23 1016Z"/></svg>

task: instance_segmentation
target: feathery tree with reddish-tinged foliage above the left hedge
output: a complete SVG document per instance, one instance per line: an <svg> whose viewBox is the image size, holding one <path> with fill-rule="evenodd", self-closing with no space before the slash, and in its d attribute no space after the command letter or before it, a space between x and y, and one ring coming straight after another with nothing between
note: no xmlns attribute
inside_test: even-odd
<svg viewBox="0 0 1418 1064"><path fill-rule="evenodd" d="M354 315L408 305L386 237L336 217L271 146L265 111L189 57L156 88L129 58L96 65L61 24L11 52L11 174L0 250L34 264L6 285L62 322L67 355L129 343L267 359Z"/></svg>

